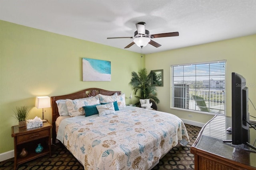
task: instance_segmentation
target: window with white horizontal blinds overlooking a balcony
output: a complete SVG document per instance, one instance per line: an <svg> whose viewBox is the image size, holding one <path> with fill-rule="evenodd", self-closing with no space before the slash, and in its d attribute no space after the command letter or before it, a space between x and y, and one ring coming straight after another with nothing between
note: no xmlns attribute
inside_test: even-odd
<svg viewBox="0 0 256 170"><path fill-rule="evenodd" d="M171 66L172 107L225 114L226 61Z"/></svg>

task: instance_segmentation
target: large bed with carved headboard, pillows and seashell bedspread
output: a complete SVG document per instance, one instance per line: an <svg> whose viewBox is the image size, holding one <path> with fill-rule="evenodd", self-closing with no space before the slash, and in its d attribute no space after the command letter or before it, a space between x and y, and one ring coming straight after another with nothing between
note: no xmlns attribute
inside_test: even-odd
<svg viewBox="0 0 256 170"><path fill-rule="evenodd" d="M121 91L89 88L51 100L52 141L63 143L85 170L148 170L178 143L189 142L178 117L126 106ZM81 100L84 109L78 108ZM66 102L71 116L61 114L60 101Z"/></svg>

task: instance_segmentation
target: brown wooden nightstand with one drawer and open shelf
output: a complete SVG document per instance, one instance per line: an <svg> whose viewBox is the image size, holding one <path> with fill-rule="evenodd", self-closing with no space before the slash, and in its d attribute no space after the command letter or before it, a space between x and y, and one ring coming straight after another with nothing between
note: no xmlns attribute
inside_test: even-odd
<svg viewBox="0 0 256 170"><path fill-rule="evenodd" d="M39 156L49 154L51 156L51 131L52 125L47 121L43 123L42 127L35 127L32 129L26 129L26 127L19 128L12 126L12 137L14 137L14 170L18 165ZM38 144L44 147L42 152L36 153L35 149ZM28 151L28 155L24 158L20 157L20 152L25 148Z"/></svg>

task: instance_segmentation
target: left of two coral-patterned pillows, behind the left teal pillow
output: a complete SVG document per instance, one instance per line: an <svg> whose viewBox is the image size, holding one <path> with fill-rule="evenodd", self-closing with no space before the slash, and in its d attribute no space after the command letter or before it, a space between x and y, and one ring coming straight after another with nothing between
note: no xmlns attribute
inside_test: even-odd
<svg viewBox="0 0 256 170"><path fill-rule="evenodd" d="M98 95L75 100L66 99L66 105L68 107L68 114L70 117L84 115L83 106L92 106L96 104L100 104Z"/></svg>

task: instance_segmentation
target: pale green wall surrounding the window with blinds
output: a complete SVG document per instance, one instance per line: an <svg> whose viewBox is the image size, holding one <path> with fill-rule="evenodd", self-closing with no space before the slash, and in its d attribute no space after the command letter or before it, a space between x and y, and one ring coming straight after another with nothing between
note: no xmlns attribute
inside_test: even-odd
<svg viewBox="0 0 256 170"><path fill-rule="evenodd" d="M226 60L226 115L231 116L231 72L237 72L246 78L249 98L256 106L256 35L251 35L146 55L145 64L148 70L164 69L164 86L157 87L159 109L190 121L206 123L211 119L212 115L170 108L170 66L217 60ZM256 116L250 102L249 112ZM188 117L189 114L192 117Z"/></svg>

